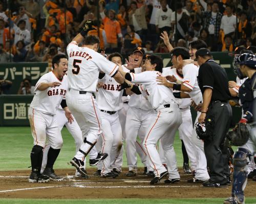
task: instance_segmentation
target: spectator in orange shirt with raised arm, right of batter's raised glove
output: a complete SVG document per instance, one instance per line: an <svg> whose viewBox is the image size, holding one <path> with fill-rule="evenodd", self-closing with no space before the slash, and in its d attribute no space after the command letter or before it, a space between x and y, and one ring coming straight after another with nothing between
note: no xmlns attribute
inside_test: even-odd
<svg viewBox="0 0 256 204"><path fill-rule="evenodd" d="M101 7L101 11L102 11ZM116 52L118 48L118 40L122 42L122 33L119 22L115 19L115 11L109 11L109 17L105 16L104 12L100 12L104 30L106 33L106 52Z"/></svg>

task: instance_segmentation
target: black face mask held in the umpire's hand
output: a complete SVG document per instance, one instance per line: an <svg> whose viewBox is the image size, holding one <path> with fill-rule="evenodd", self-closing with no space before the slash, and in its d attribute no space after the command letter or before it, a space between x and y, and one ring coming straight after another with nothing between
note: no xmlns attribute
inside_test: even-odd
<svg viewBox="0 0 256 204"><path fill-rule="evenodd" d="M197 138L204 142L212 141L214 137L214 118L209 116L205 119L205 123L196 123Z"/></svg>

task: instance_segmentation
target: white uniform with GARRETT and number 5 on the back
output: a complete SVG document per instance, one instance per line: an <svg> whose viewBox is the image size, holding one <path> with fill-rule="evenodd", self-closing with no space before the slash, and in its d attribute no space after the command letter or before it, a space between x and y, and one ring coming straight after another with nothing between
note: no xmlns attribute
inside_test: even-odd
<svg viewBox="0 0 256 204"><path fill-rule="evenodd" d="M83 161L102 132L100 111L92 95L96 92L99 71L113 76L118 66L90 48L78 47L76 41L69 43L67 53L69 92L66 101L87 141L75 155Z"/></svg>

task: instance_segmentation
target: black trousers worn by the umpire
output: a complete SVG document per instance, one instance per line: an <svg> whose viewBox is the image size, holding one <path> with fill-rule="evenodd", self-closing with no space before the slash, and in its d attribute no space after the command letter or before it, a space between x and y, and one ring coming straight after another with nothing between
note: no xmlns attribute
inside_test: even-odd
<svg viewBox="0 0 256 204"><path fill-rule="evenodd" d="M229 103L212 102L207 111L208 116L214 117L214 136L211 141L204 143L204 152L210 169L210 180L216 183L226 183L230 170L227 162L227 150L223 145L229 129L232 110Z"/></svg>

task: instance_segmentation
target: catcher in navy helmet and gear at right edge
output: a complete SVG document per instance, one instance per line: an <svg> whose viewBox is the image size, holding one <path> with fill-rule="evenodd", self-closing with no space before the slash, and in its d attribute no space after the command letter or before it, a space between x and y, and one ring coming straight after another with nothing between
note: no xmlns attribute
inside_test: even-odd
<svg viewBox="0 0 256 204"><path fill-rule="evenodd" d="M239 88L239 98L243 106L243 116L239 124L228 132L227 138L231 145L242 146L246 143L253 152L239 147L233 156L234 172L231 197L225 199L224 204L245 203L244 189L247 182L247 164L256 152L256 56L243 53L236 58L238 77L248 77Z"/></svg>

